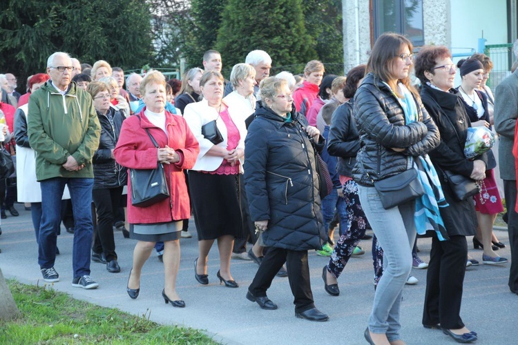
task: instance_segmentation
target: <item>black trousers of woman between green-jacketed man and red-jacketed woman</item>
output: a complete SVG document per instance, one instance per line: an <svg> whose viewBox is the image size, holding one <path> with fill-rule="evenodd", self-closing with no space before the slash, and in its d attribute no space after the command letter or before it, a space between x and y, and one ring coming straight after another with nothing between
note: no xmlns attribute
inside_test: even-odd
<svg viewBox="0 0 518 345"><path fill-rule="evenodd" d="M97 226L93 229L93 247L95 253L104 253L106 261L117 259L113 221L120 205L122 187L103 188L92 191L93 203L97 210Z"/></svg>

